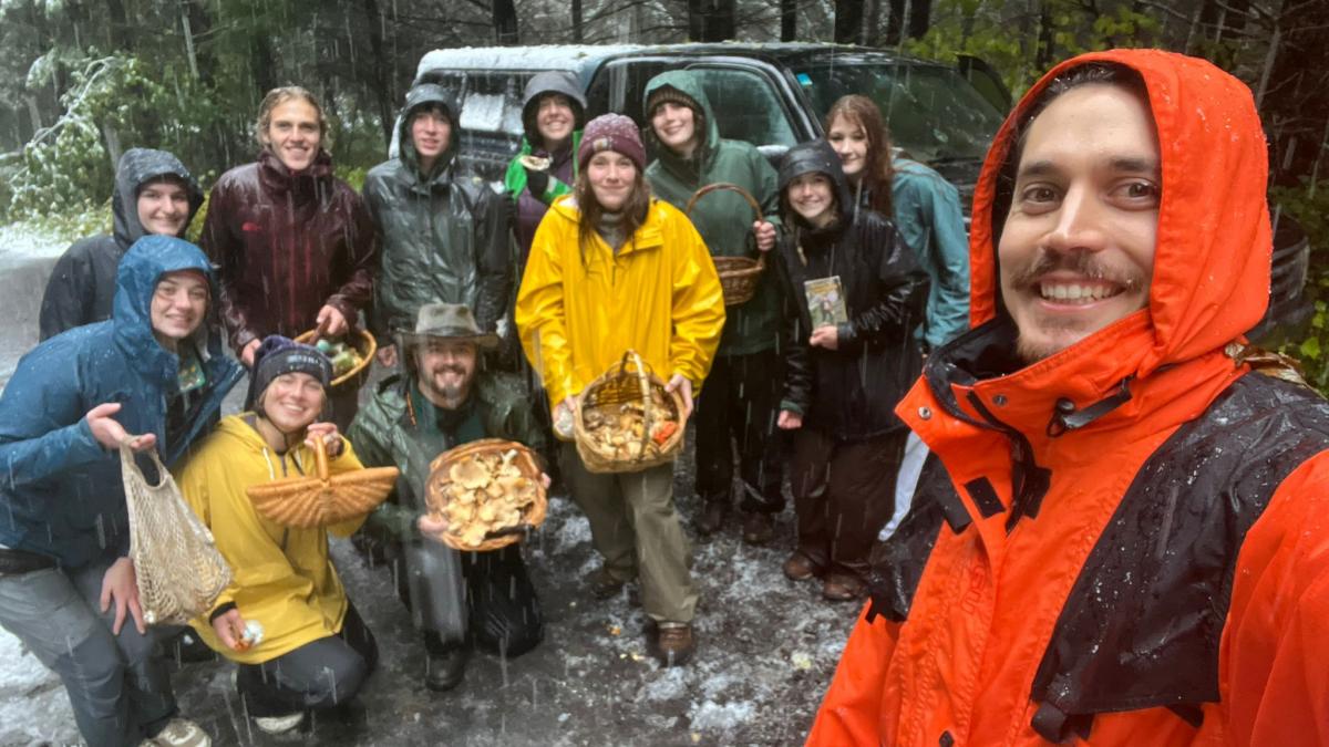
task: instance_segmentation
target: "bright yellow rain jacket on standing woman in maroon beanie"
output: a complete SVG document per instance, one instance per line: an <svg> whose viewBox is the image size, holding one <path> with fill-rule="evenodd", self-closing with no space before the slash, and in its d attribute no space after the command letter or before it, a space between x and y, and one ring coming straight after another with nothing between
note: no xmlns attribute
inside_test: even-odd
<svg viewBox="0 0 1329 747"><path fill-rule="evenodd" d="M521 344L557 405L635 350L692 392L711 370L724 328L715 263L680 210L651 201L646 222L619 247L597 234L582 257L571 195L545 214L517 292Z"/></svg>

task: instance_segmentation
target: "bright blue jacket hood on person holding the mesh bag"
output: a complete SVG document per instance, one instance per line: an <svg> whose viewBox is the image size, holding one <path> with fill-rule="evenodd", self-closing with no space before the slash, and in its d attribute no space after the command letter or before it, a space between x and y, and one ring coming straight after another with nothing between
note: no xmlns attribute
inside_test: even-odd
<svg viewBox="0 0 1329 747"><path fill-rule="evenodd" d="M141 371L155 372L162 366L162 356L175 360L175 356L162 348L153 336L152 302L157 280L163 274L177 270L198 270L207 278L209 308L193 339L205 358L222 355L221 339L217 336L210 339L207 335L207 319L211 318L217 299L221 298L221 288L217 286L207 257L187 241L150 235L134 242L120 261L112 311L116 340L130 354L130 360ZM173 363L166 371L174 375L175 366L178 364Z"/></svg>

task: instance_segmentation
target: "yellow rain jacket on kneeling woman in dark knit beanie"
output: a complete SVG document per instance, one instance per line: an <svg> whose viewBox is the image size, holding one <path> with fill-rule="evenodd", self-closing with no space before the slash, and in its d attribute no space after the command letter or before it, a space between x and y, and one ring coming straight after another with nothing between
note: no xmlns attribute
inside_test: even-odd
<svg viewBox="0 0 1329 747"><path fill-rule="evenodd" d="M328 457L328 471L352 469L361 469L360 460L343 441L340 456ZM364 517L327 529L292 529L259 516L245 493L250 485L312 472L312 449L300 444L278 455L243 415L233 415L187 459L177 480L234 573L213 609L234 602L241 617L263 625L258 646L235 651L221 642L207 614L190 621L213 650L231 661L262 663L342 630L346 590L328 558L327 533L350 537Z"/></svg>

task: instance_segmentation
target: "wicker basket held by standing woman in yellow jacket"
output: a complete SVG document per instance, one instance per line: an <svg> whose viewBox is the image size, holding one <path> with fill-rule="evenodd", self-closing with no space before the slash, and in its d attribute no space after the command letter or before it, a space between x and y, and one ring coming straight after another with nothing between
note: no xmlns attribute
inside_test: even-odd
<svg viewBox="0 0 1329 747"><path fill-rule="evenodd" d="M631 366L629 366L631 364ZM683 396L676 391L664 392L664 403L668 412L657 412L653 405L651 389L664 391L664 383L651 374L650 367L642 363L642 358L635 351L623 354L623 359L602 374L598 379L586 385L577 405L573 432L577 440L577 455L589 472L641 472L658 464L674 461L683 448L683 431L687 420L683 415ZM586 427L589 413L605 408L617 408L629 403L641 403L643 415L642 440L639 456L622 457L602 449ZM672 420L678 428L661 444L651 440L651 427L659 420Z"/></svg>

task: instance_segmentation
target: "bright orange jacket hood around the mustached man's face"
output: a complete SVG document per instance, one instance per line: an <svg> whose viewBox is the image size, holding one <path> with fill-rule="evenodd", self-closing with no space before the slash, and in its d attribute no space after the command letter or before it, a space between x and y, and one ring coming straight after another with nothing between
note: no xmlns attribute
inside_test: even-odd
<svg viewBox="0 0 1329 747"><path fill-rule="evenodd" d="M1043 360L1094 347L1110 335L1118 379L1144 377L1240 338L1269 296L1272 234L1265 198L1265 137L1251 90L1208 61L1152 49L1095 52L1049 70L1006 118L974 191L970 238L973 327L1001 310L995 245L1005 215L994 211L1018 125L1053 78L1087 62L1136 70L1158 128L1162 202L1147 308ZM781 173L783 185L783 173ZM1203 268L1203 272L1196 272Z"/></svg>

